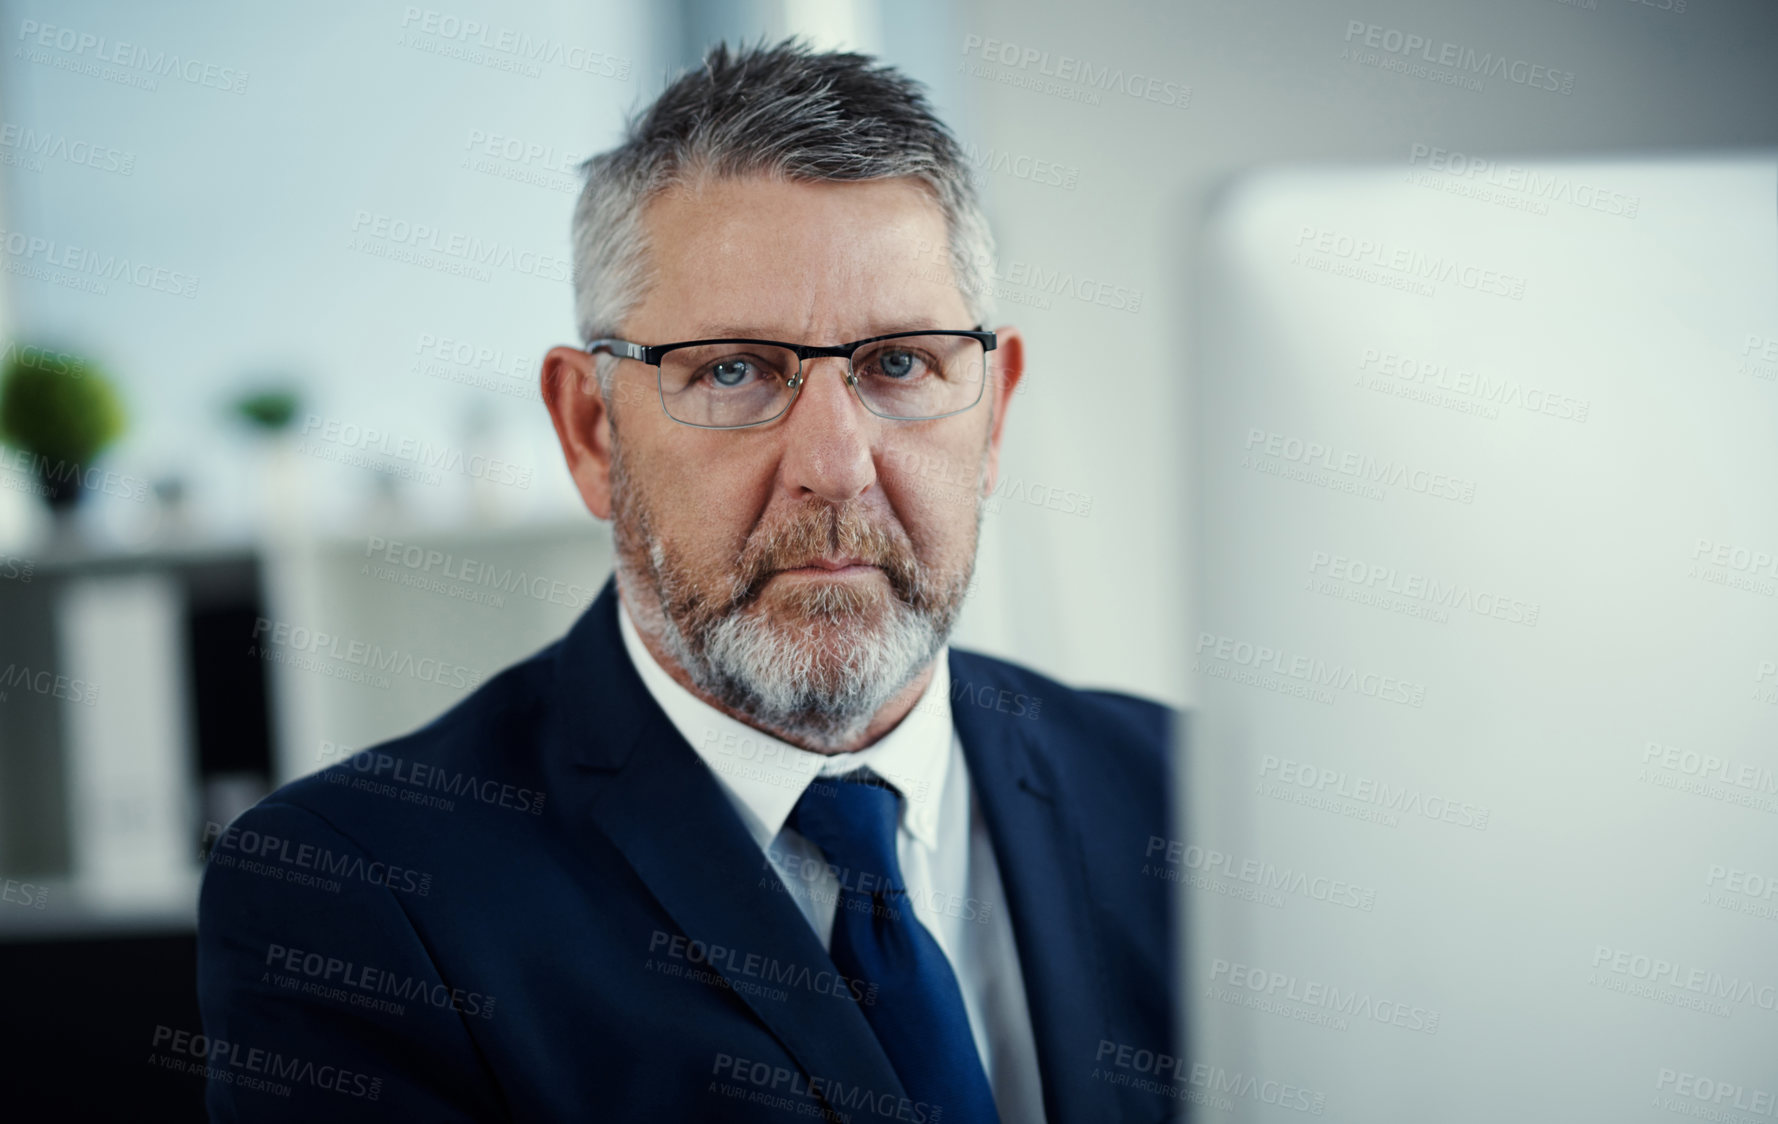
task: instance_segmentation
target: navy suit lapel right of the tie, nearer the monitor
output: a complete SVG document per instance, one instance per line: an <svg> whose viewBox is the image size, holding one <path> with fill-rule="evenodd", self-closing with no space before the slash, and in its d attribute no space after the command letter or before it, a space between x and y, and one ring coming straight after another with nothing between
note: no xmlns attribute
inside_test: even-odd
<svg viewBox="0 0 1778 1124"><path fill-rule="evenodd" d="M985 665L955 649L951 683L999 686ZM1049 1124L1092 1119L1106 1101L1106 1088L1092 1081L1092 1042L1109 1037L1102 1001L1109 982L1086 916L1092 898L1079 827L1056 799L1067 786L1031 719L955 699L951 715L1012 911L1044 1113Z"/></svg>

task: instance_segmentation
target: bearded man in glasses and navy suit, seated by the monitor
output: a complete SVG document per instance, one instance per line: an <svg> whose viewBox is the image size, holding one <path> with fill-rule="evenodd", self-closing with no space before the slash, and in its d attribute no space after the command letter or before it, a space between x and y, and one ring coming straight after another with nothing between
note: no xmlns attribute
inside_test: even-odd
<svg viewBox="0 0 1778 1124"><path fill-rule="evenodd" d="M213 841L213 1117L1170 1115L1168 713L946 646L1024 347L917 85L717 48L574 249L542 389L615 578Z"/></svg>

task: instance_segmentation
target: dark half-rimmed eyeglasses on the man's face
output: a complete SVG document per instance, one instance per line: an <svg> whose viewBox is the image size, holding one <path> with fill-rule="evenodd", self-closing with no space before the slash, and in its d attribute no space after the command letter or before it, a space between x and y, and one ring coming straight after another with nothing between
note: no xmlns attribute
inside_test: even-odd
<svg viewBox="0 0 1778 1124"><path fill-rule="evenodd" d="M654 368L661 409L699 429L745 429L784 414L807 381L807 359L845 359L846 386L864 409L894 422L930 422L960 414L981 400L994 333L933 329L891 333L837 347L777 340L688 340L647 347L628 340L592 340L589 352L610 352Z"/></svg>

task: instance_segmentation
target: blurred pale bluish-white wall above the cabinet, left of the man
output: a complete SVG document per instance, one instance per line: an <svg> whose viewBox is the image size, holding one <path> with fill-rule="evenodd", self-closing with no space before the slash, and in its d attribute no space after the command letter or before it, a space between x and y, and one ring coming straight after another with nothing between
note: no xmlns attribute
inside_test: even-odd
<svg viewBox="0 0 1778 1124"><path fill-rule="evenodd" d="M50 277L12 277L16 325L123 382L116 468L178 471L210 530L236 532L260 491L226 402L288 375L302 413L341 430L532 470L500 491L509 514L578 507L532 384L542 352L574 338L573 165L665 66L647 9L23 0L0 5L0 28L7 228L53 242L7 253ZM69 247L192 295L153 279L82 292L66 283L78 269L52 265ZM373 494L372 473L306 470L327 525ZM437 519L471 502L461 473L402 493ZM128 537L135 514L112 528Z"/></svg>

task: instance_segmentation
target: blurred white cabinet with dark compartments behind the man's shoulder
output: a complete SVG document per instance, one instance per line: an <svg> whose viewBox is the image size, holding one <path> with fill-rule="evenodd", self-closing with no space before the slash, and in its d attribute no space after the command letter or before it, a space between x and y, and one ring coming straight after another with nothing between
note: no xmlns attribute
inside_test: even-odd
<svg viewBox="0 0 1778 1124"><path fill-rule="evenodd" d="M0 871L44 891L0 939L188 930L206 825L439 717L608 573L589 516L69 551L0 580Z"/></svg>

